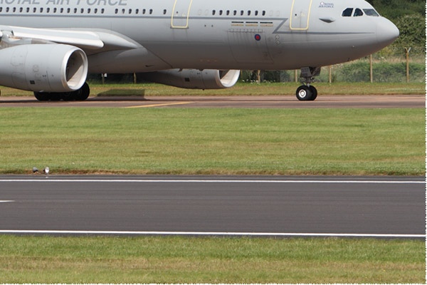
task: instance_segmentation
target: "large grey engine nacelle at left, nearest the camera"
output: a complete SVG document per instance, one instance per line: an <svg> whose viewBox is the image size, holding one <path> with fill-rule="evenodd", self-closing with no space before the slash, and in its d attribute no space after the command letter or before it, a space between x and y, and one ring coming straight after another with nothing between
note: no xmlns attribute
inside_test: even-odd
<svg viewBox="0 0 427 285"><path fill-rule="evenodd" d="M88 76L88 58L75 46L28 44L0 50L0 85L35 92L71 92Z"/></svg>

